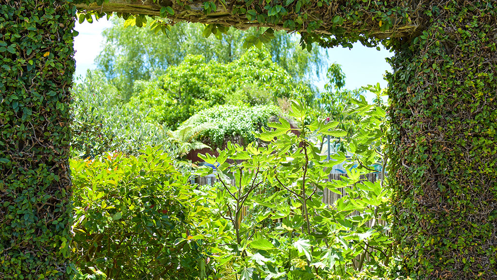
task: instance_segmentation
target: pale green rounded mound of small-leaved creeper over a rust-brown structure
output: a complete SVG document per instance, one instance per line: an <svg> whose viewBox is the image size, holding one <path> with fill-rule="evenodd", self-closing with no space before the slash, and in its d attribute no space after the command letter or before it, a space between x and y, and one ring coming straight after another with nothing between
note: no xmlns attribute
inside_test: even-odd
<svg viewBox="0 0 497 280"><path fill-rule="evenodd" d="M253 131L260 131L271 117L279 114L280 110L274 105L219 105L195 114L179 130L210 124L211 128L198 135L202 142L212 147L224 147L228 141L245 145L255 140Z"/></svg>

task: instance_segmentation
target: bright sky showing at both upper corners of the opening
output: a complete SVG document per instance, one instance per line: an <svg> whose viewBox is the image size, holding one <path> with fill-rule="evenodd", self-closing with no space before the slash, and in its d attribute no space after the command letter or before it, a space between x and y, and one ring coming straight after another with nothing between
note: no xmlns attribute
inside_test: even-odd
<svg viewBox="0 0 497 280"><path fill-rule="evenodd" d="M80 33L74 42L76 77L84 76L86 69L95 68L94 59L100 52L103 43L102 30L110 25L110 21L104 18L91 24L86 21L83 24L76 23L76 30ZM360 43L354 44L352 49L336 47L328 50L329 63L334 62L341 65L346 77L345 87L348 89L376 83L386 87L387 82L383 76L385 71L391 71L392 68L385 61L385 58L391 56L393 53L385 49L378 51L375 48L364 47ZM314 84L320 88L323 88L326 83L326 69L324 71L321 80L314 81Z"/></svg>

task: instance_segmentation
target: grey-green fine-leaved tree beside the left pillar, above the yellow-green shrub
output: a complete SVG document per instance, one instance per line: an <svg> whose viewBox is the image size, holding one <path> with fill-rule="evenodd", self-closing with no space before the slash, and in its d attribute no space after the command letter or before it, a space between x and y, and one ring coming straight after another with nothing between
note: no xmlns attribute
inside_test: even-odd
<svg viewBox="0 0 497 280"><path fill-rule="evenodd" d="M175 149L168 131L144 122L145 115L124 106L118 91L105 82L100 72L88 72L83 83L73 88L73 154L95 157L106 151L137 154L146 145Z"/></svg>

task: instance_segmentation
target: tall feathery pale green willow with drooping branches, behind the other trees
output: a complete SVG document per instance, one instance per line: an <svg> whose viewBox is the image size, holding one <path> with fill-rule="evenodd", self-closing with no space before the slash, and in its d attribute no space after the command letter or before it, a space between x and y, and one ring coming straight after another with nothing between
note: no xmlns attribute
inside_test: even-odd
<svg viewBox="0 0 497 280"><path fill-rule="evenodd" d="M167 67L180 64L187 55L202 55L201 63L211 60L219 64L234 62L246 52L242 46L244 39L262 33L255 28L245 32L227 28L230 30L226 34L217 36L221 39L216 39L216 36L206 39L205 30L212 29L198 23L180 22L166 29L167 36L158 36L154 27L160 24L151 23L150 28L127 28L132 19L134 17L126 22L113 19L112 27L103 32L106 42L96 59L98 68L126 98L133 92L135 81L154 79L164 74ZM294 36L283 31L275 32L274 39L265 49L271 54L272 61L292 77L304 78L324 64L320 55L322 50L316 48L310 54L298 48L297 43Z"/></svg>

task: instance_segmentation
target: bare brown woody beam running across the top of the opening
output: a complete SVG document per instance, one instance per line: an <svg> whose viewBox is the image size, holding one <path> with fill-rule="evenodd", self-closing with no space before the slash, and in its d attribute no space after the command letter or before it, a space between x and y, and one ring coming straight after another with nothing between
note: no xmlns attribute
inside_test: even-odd
<svg viewBox="0 0 497 280"><path fill-rule="evenodd" d="M395 24L389 29L381 28L381 23L367 12L363 13L362 18L356 18L353 21L345 20L342 24L336 24L336 22L333 22L335 16L345 16L346 13L338 11L336 7L333 8L333 10L335 10L334 12L330 11L331 7L329 7L329 14L323 16L320 14L320 11L315 11L312 14L309 14L308 19L300 26L297 25L296 28L292 28L292 26L285 25L284 20L302 19L302 17L299 17L299 15L294 12L288 12L287 15L276 23L267 21L261 23L255 19L249 20L247 12L234 12L233 4L230 3L230 1L226 1L226 5L218 5L216 11L211 11L208 14L204 13L204 3L199 0L190 2L188 6L180 6L169 0L109 0L101 5L98 5L97 3L79 3L76 7L80 12L128 13L156 17L162 17L162 7L171 7L174 14L168 14L167 16L167 19L171 23L198 22L203 24L218 24L242 30L250 27L267 27L273 28L274 30L305 33L312 30L311 35L317 35L318 37L323 38L336 36L337 34L342 34L340 36L344 37L347 36L344 34L361 34L365 38L376 40L387 38L410 38L413 37L414 34L418 34L420 26L422 26L422 24L418 22L419 20L413 18L406 20L405 18L392 15L391 20L392 22L395 22ZM308 29L305 27L307 24L317 21L320 21L317 28Z"/></svg>

